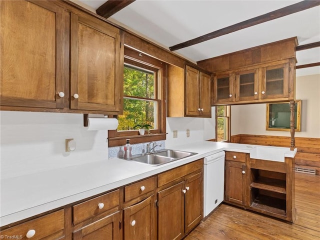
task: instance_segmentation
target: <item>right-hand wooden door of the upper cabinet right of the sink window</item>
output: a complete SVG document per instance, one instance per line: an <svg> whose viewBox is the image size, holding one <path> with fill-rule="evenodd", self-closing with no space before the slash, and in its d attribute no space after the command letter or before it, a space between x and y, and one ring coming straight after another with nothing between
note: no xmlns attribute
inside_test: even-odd
<svg viewBox="0 0 320 240"><path fill-rule="evenodd" d="M199 72L200 82L200 115L211 117L211 77Z"/></svg>

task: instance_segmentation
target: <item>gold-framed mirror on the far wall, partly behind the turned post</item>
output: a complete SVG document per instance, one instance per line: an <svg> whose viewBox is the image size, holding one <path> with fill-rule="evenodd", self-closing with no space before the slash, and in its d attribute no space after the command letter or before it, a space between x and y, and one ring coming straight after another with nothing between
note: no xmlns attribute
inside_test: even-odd
<svg viewBox="0 0 320 240"><path fill-rule="evenodd" d="M294 104L294 128L300 131L301 100ZM266 104L266 130L290 131L290 103L277 102Z"/></svg>

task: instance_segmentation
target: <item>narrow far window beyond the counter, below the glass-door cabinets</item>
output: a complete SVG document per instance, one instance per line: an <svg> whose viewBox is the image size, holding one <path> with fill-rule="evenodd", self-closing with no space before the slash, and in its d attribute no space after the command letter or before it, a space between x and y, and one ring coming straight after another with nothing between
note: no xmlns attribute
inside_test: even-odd
<svg viewBox="0 0 320 240"><path fill-rule="evenodd" d="M215 107L215 139L230 141L230 106Z"/></svg>

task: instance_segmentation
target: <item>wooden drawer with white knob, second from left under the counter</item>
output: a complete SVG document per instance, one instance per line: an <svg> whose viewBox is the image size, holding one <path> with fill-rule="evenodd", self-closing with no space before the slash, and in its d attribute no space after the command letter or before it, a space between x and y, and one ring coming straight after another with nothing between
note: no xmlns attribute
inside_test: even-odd
<svg viewBox="0 0 320 240"><path fill-rule="evenodd" d="M72 206L73 224L94 217L111 208L119 206L120 190L108 192Z"/></svg>

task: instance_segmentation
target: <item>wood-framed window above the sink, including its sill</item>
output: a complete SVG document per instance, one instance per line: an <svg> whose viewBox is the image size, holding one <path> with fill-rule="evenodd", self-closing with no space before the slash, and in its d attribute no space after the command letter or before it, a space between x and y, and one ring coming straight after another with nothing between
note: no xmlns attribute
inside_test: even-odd
<svg viewBox="0 0 320 240"><path fill-rule="evenodd" d="M165 140L165 63L133 49L124 48L123 114L117 130L108 131L108 146ZM139 135L136 125L149 124Z"/></svg>

